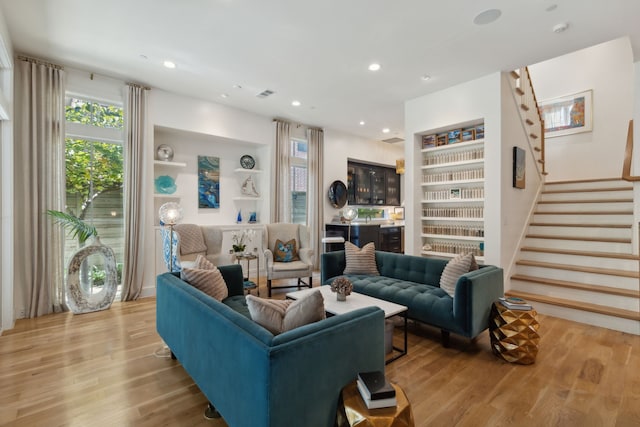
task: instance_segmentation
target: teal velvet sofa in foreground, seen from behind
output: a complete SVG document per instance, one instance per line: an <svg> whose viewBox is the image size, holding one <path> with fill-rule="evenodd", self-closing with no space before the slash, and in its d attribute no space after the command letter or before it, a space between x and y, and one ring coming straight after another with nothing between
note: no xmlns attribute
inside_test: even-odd
<svg viewBox="0 0 640 427"><path fill-rule="evenodd" d="M274 336L253 322L239 265L219 302L177 273L157 277L156 328L231 427L333 427L342 387L384 370L384 312L330 317Z"/></svg>

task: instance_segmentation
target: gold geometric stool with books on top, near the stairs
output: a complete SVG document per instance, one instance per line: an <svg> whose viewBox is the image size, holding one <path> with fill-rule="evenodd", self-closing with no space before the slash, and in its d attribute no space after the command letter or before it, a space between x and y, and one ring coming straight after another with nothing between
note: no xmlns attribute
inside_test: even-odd
<svg viewBox="0 0 640 427"><path fill-rule="evenodd" d="M540 342L537 315L533 309L510 310L499 301L494 302L489 321L493 353L511 363L534 363Z"/></svg>

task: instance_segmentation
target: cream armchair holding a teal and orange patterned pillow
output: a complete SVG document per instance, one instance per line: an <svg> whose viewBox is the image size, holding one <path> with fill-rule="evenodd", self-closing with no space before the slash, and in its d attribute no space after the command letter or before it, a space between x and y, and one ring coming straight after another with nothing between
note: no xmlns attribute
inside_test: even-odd
<svg viewBox="0 0 640 427"><path fill-rule="evenodd" d="M300 286L313 286L313 262L315 254L311 246L309 229L300 224L275 223L267 224L262 237L262 247L264 248L264 260L267 268L267 289L271 296L271 280L273 279L298 279L297 285L278 286L278 288L294 288ZM281 242L296 241L297 261L277 262L275 261L274 249L276 240ZM302 278L308 277L309 283L305 283Z"/></svg>

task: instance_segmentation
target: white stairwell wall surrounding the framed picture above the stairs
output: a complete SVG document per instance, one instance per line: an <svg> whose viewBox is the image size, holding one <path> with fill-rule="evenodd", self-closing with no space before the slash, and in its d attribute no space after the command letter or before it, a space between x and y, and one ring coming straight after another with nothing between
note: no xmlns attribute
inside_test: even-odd
<svg viewBox="0 0 640 427"><path fill-rule="evenodd" d="M633 52L621 38L529 66L539 101L593 90L593 132L546 139L547 181L620 177L633 116Z"/></svg>

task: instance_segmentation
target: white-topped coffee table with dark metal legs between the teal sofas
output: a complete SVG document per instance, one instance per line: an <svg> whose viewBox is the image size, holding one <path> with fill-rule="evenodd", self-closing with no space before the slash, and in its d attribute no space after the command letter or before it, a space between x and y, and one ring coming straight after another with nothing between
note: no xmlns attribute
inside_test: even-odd
<svg viewBox="0 0 640 427"><path fill-rule="evenodd" d="M332 315L345 314L351 311L365 308L365 307L379 307L384 311L385 319L393 316L402 316L404 318L404 348L393 346L393 349L398 352L392 358L387 359L385 363L391 363L399 357L407 354L407 310L404 305L395 304L393 302L381 300L378 298L370 297L368 295L359 294L357 292L351 292L346 301L338 301L336 294L331 292L330 286L319 286L317 288L303 289L300 291L289 292L286 297L289 299L300 299L309 295L311 292L320 291L324 298L324 310ZM392 337L393 339L393 337Z"/></svg>

